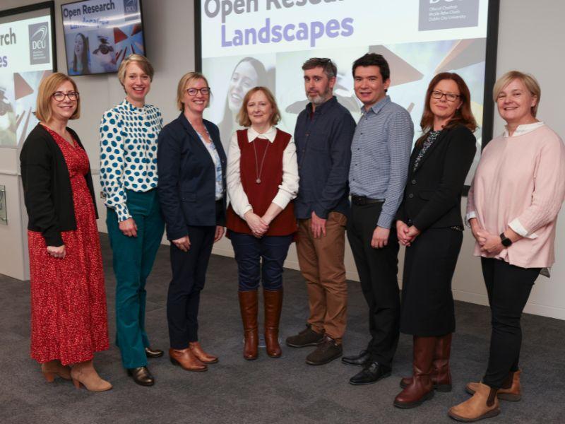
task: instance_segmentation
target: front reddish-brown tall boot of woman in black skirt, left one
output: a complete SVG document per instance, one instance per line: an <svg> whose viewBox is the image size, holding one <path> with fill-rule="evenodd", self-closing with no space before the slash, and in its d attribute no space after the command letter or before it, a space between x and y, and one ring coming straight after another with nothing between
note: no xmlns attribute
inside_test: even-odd
<svg viewBox="0 0 565 424"><path fill-rule="evenodd" d="M414 375L412 375L411 384L394 399L394 406L415 408L434 397L434 387L429 375L432 372L436 342L437 337L414 336L414 361L412 363Z"/></svg>

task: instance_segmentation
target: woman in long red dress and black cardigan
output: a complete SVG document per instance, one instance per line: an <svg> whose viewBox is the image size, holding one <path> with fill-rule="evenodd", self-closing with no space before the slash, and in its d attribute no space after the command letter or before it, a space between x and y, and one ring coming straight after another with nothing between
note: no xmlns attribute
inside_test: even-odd
<svg viewBox="0 0 565 424"><path fill-rule="evenodd" d="M20 166L31 287L31 357L48 382L73 379L90 391L112 389L93 367L109 347L96 201L88 157L69 119L78 119L76 83L53 73L40 83ZM71 365L71 368L69 368Z"/></svg>

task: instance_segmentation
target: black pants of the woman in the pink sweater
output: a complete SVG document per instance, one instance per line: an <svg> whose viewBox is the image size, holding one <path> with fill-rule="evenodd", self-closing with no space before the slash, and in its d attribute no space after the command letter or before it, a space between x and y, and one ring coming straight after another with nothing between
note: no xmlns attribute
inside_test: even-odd
<svg viewBox="0 0 565 424"><path fill-rule="evenodd" d="M520 318L540 268L521 268L481 258L492 319L489 365L482 382L499 389L509 372L518 371L522 344Z"/></svg>

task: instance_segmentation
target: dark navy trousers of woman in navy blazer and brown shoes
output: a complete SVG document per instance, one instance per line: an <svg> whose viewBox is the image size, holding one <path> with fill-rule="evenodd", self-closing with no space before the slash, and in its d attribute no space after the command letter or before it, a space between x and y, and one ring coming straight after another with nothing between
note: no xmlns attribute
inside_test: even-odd
<svg viewBox="0 0 565 424"><path fill-rule="evenodd" d="M215 229L215 226L189 225L188 252L171 243L172 280L167 295L167 322L173 349L186 349L189 342L198 341L200 292L206 281Z"/></svg>

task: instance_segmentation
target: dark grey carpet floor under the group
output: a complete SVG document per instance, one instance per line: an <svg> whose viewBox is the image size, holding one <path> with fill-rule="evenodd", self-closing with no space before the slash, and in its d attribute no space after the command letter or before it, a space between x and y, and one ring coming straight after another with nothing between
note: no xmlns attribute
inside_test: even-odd
<svg viewBox="0 0 565 424"><path fill-rule="evenodd" d="M109 328L115 335L111 252L101 235ZM477 264L478 266L478 264ZM148 281L147 328L154 347L168 348L166 298L170 278L168 247L162 246ZM168 358L150 360L154 387L133 384L112 346L98 353L95 365L114 389L93 394L70 382L42 379L29 357L29 284L0 275L0 420L1 423L454 423L448 408L468 399L465 383L480 379L489 346L487 307L457 302L458 329L453 338L453 391L437 393L419 408L393 406L398 382L411 370L412 341L401 336L393 375L377 384L354 387L356 367L339 360L312 367L304 363L311 348L287 348L283 357L242 358L242 324L233 259L210 259L201 296L200 338L220 356L208 372L185 372ZM282 337L304 328L307 293L297 271L285 271ZM523 400L501 402L501 414L489 423L565 423L565 322L524 315ZM357 353L368 340L367 306L359 283L349 283L345 353Z"/></svg>

